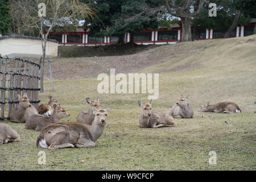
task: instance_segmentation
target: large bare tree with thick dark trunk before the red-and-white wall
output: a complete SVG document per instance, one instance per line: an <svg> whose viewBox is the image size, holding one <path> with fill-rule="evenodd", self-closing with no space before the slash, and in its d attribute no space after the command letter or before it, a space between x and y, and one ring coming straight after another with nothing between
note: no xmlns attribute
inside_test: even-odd
<svg viewBox="0 0 256 182"><path fill-rule="evenodd" d="M204 10L207 0L165 0L168 13L182 22L182 41L191 41L191 20Z"/></svg>

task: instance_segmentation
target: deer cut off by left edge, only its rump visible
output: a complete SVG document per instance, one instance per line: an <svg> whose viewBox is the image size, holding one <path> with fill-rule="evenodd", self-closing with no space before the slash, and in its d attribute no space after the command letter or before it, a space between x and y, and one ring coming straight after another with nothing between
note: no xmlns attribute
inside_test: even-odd
<svg viewBox="0 0 256 182"><path fill-rule="evenodd" d="M13 128L5 123L0 123L0 144L8 142L20 142L18 133Z"/></svg>

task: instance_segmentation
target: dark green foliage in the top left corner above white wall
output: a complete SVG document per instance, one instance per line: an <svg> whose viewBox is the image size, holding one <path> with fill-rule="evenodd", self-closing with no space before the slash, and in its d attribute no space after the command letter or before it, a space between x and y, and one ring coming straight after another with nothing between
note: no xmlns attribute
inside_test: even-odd
<svg viewBox="0 0 256 182"><path fill-rule="evenodd" d="M7 34L11 27L10 1L0 0L0 34Z"/></svg>

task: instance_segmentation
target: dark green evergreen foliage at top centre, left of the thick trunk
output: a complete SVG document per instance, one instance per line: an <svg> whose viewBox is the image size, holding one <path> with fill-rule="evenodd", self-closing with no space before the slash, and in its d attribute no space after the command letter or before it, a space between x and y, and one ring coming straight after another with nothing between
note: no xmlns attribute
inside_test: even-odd
<svg viewBox="0 0 256 182"><path fill-rule="evenodd" d="M97 18L90 24L94 36L122 36L126 32L157 28L156 13L148 15L149 9L159 6L154 0L85 0L96 3Z"/></svg>

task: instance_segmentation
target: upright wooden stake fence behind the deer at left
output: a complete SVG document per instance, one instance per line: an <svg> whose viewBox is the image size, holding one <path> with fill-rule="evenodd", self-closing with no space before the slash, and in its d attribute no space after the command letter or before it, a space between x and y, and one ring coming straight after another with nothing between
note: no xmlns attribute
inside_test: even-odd
<svg viewBox="0 0 256 182"><path fill-rule="evenodd" d="M11 110L18 107L18 94L27 93L30 103L38 108L39 70L40 65L30 60L0 56L0 119L9 119Z"/></svg>

